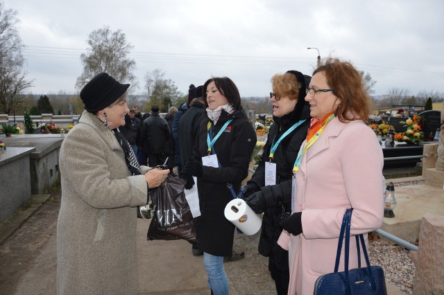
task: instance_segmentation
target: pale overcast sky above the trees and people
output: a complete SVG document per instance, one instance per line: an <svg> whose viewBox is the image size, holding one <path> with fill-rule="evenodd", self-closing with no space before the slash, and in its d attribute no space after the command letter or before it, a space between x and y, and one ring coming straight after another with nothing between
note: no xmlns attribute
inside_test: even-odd
<svg viewBox="0 0 444 295"><path fill-rule="evenodd" d="M2 0L0 0L2 1ZM270 78L311 75L316 49L349 60L391 88L444 92L444 1L94 1L3 0L16 10L35 94L74 93L80 54L93 30L122 30L134 46L139 91L161 69L186 93L190 83L228 76L241 96L268 96ZM125 82L125 81L121 81Z"/></svg>

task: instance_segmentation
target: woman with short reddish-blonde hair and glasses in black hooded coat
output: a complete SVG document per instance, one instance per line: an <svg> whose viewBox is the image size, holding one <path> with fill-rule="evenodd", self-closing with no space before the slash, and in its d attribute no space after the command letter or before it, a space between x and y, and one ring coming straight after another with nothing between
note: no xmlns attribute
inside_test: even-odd
<svg viewBox="0 0 444 295"><path fill-rule="evenodd" d="M280 222L291 213L291 177L301 143L310 125L305 89L310 78L298 71L273 75L273 120L264 153L243 198L255 213L264 213L259 253L268 257L268 270L278 294L287 294L289 285L288 251L278 246ZM275 169L275 173L269 172ZM267 177L266 177L267 175ZM287 213L287 214L286 214Z"/></svg>

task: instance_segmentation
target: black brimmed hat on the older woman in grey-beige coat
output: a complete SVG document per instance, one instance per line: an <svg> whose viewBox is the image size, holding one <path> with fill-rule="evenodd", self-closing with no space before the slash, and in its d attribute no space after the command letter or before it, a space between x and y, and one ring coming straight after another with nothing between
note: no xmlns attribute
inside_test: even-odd
<svg viewBox="0 0 444 295"><path fill-rule="evenodd" d="M112 105L128 87L130 87L130 84L121 84L108 73L99 73L83 87L80 91L80 98L85 105L85 109L95 113Z"/></svg>

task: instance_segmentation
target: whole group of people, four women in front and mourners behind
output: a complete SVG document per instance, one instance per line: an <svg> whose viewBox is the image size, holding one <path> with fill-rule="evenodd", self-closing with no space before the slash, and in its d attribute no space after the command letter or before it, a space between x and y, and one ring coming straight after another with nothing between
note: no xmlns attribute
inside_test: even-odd
<svg viewBox="0 0 444 295"><path fill-rule="evenodd" d="M313 294L316 279L332 272L345 210L354 209L354 235L382 225L384 178L359 71L327 58L310 74L271 77L274 123L244 187L257 137L230 78L190 84L188 100L164 117L157 105L143 115L129 109L130 85L107 73L90 80L80 92L85 111L60 150L58 293L135 294L137 206L172 175L185 189L197 186L191 253L203 255L211 294L229 293L223 263L244 257L224 215L239 196L262 216L258 251L277 294ZM350 269L357 265L350 256Z"/></svg>

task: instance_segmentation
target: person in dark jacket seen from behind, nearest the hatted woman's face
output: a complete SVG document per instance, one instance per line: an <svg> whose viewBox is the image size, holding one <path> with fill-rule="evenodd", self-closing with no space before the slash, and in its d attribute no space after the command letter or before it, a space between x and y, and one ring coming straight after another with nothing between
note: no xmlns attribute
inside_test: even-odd
<svg viewBox="0 0 444 295"><path fill-rule="evenodd" d="M151 107L151 116L144 120L139 137L139 148L148 156L148 166L162 165L165 161L165 144L169 138L167 120L159 115L159 107Z"/></svg>

